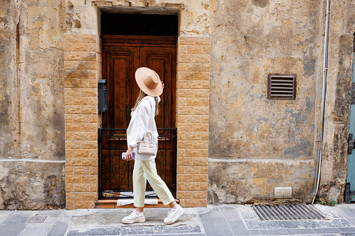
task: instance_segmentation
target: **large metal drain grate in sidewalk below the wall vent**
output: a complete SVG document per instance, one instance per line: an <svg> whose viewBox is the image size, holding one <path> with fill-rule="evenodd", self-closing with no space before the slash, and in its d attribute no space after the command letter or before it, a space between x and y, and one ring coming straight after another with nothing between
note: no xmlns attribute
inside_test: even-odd
<svg viewBox="0 0 355 236"><path fill-rule="evenodd" d="M252 206L252 209L262 221L326 219L311 205L257 205Z"/></svg>

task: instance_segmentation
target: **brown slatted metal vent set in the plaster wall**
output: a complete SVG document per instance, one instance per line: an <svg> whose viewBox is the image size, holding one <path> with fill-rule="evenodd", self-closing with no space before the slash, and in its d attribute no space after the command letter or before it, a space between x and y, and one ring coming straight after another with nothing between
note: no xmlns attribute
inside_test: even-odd
<svg viewBox="0 0 355 236"><path fill-rule="evenodd" d="M268 98L294 100L296 98L296 74L269 74Z"/></svg>

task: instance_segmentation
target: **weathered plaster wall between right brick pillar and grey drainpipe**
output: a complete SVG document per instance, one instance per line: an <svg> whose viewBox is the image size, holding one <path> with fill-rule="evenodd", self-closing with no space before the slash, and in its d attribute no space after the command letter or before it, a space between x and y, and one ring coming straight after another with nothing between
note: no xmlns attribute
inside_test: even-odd
<svg viewBox="0 0 355 236"><path fill-rule="evenodd" d="M294 197L308 201L322 78L322 6L219 0L211 15L209 203L273 198L274 187L282 186L294 187ZM268 100L269 73L296 74L296 100ZM229 175L220 171L226 165ZM234 184L220 182L225 176L233 176Z"/></svg>

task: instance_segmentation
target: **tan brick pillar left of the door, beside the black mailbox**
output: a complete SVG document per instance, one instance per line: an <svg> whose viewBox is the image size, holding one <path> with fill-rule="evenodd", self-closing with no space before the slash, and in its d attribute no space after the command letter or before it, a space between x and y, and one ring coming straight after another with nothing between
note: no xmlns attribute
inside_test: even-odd
<svg viewBox="0 0 355 236"><path fill-rule="evenodd" d="M93 208L98 199L97 35L64 36L66 208Z"/></svg>

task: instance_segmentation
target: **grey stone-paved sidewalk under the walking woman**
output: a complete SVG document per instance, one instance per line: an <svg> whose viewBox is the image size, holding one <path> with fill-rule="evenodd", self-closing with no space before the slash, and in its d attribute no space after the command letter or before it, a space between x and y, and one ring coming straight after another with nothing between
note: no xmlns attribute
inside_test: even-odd
<svg viewBox="0 0 355 236"><path fill-rule="evenodd" d="M171 226L163 223L167 208L146 208L146 222L134 225L121 223L133 209L0 211L0 236L355 235L355 205L315 208L327 219L261 221L250 205L211 205L185 208Z"/></svg>

